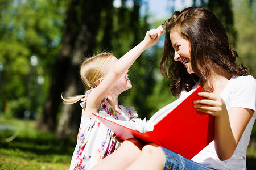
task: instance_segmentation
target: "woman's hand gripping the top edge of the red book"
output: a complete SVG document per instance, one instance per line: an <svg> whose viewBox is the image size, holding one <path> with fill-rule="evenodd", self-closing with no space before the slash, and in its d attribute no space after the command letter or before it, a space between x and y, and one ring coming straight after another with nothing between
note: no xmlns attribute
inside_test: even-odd
<svg viewBox="0 0 256 170"><path fill-rule="evenodd" d="M195 103L194 107L197 111L208 113L213 116L228 114L226 104L220 96L208 92L200 92L198 95L207 99L193 101L193 103Z"/></svg>

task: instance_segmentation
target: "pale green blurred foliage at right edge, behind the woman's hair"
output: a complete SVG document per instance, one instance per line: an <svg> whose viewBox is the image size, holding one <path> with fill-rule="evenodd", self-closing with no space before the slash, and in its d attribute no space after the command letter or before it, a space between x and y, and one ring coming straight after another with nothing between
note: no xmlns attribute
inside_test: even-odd
<svg viewBox="0 0 256 170"><path fill-rule="evenodd" d="M233 0L233 11L234 27L238 32L236 46L234 47L239 55L237 61L250 67L253 70L254 78L256 78L256 1L249 5L247 1Z"/></svg>

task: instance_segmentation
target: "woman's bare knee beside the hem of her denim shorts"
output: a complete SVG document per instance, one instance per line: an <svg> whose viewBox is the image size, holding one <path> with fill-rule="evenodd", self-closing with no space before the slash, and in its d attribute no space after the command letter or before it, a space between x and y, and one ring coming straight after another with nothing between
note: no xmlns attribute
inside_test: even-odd
<svg viewBox="0 0 256 170"><path fill-rule="evenodd" d="M148 144L142 148L139 157L127 169L163 169L164 152L156 144Z"/></svg>

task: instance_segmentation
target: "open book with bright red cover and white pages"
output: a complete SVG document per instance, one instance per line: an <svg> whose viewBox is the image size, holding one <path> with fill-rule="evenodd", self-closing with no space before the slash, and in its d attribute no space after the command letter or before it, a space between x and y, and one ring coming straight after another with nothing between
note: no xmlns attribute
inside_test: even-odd
<svg viewBox="0 0 256 170"><path fill-rule="evenodd" d="M214 139L214 116L193 108L194 100L203 99L197 93L203 91L200 86L191 90L187 97L166 105L148 121L128 122L94 115L123 140L136 137L192 159Z"/></svg>

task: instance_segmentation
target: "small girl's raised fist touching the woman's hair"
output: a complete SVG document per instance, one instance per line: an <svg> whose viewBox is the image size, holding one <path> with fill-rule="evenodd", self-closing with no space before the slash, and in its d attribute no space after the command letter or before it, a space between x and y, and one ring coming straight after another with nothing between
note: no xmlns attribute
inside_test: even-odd
<svg viewBox="0 0 256 170"><path fill-rule="evenodd" d="M146 43L147 48L150 48L151 46L155 45L160 39L160 36L163 34L163 32L164 30L162 26L147 31L146 36L143 40Z"/></svg>

